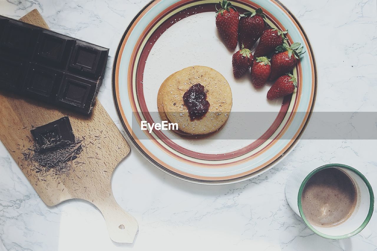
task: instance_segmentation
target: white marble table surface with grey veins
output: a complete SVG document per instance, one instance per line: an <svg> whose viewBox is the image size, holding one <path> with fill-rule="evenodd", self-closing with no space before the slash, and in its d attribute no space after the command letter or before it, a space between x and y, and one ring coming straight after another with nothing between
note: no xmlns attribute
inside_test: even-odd
<svg viewBox="0 0 377 251"><path fill-rule="evenodd" d="M149 0L0 0L0 14L37 8L54 31L110 48L99 99L121 129L112 101L112 61L134 15ZM281 0L309 35L319 75L317 111L377 109L375 0ZM128 140L128 139L127 139ZM377 191L377 141L302 139L282 162L238 184L205 186L173 178L132 146L116 168L113 193L139 222L134 244L109 239L100 212L69 200L47 207L0 144L0 250L377 250L377 215L369 239L327 240L291 211L284 185L308 162L360 169Z"/></svg>

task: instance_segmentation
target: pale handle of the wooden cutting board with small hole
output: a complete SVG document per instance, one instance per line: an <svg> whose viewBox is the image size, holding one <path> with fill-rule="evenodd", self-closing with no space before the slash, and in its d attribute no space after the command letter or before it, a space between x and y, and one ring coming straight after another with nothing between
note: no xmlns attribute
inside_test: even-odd
<svg viewBox="0 0 377 251"><path fill-rule="evenodd" d="M120 207L111 192L107 198L91 203L101 211L110 239L118 243L133 243L139 230L138 222Z"/></svg>

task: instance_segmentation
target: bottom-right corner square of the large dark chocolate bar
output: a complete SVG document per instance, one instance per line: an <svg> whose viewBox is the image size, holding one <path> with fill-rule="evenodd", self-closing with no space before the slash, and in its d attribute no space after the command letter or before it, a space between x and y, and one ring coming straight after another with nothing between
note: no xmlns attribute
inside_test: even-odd
<svg viewBox="0 0 377 251"><path fill-rule="evenodd" d="M66 74L60 86L57 103L82 113L89 113L95 102L97 87L97 82Z"/></svg>

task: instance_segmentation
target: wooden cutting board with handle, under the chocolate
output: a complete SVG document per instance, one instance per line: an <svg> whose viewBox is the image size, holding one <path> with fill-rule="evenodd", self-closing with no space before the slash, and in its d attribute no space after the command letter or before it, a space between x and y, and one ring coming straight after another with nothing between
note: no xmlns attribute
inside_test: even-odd
<svg viewBox="0 0 377 251"><path fill-rule="evenodd" d="M20 20L48 29L36 9ZM87 200L103 214L113 241L132 243L138 223L116 203L111 190L112 173L130 147L101 103L97 100L87 117L0 92L0 107L0 140L43 202L54 206L68 199ZM30 130L63 116L69 116L75 136L85 138L83 152L73 161L79 163L72 163L70 171L63 174L37 173L22 155L33 144Z"/></svg>

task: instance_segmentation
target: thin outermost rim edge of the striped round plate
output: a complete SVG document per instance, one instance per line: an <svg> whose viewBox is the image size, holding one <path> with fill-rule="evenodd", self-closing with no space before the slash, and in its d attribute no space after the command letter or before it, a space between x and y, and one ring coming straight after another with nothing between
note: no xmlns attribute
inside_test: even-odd
<svg viewBox="0 0 377 251"><path fill-rule="evenodd" d="M270 170L275 165L277 165L280 161L282 161L297 145L297 143L299 142L303 132L305 131L306 127L308 126L308 123L310 121L311 115L313 113L313 110L314 110L314 107L315 107L315 104L316 104L317 89L318 89L317 65L316 65L315 55L314 55L314 51L313 51L313 48L311 46L310 40L309 40L308 35L306 34L305 30L302 28L302 25L297 20L297 18L291 13L291 11L289 9L287 9L285 7L285 5L283 5L279 0L270 0L271 2L275 2L277 5L280 5L285 11L287 11L287 13L290 15L290 17L294 20L294 22L297 24L300 31L302 32L303 36L305 37L307 44L308 44L308 49L310 50L310 53L311 53L311 56L312 56L313 69L314 69L314 72L313 72L313 76L314 76L313 102L312 102L310 110L308 112L309 113L308 117L307 117L302 129L299 131L299 134L297 135L297 137L290 144L290 146L279 157L277 157L273 162L267 164L265 167L255 171L253 173L246 174L244 176L240 176L240 177L237 177L237 178L219 179L219 180L215 180L215 181L214 180L205 180L205 179L196 179L196 178L184 176L184 175L179 174L179 173L175 173L174 171L172 171L172 170L162 166L161 164L153 161L152 159L150 159L150 156L146 152L144 152L143 149L141 149L141 147L137 144L137 142L133 138L132 134L127 129L126 124L123 121L123 118L121 116L120 104L118 103L117 97L116 97L116 90L115 90L116 89L116 83L115 83L116 82L115 81L115 78L116 78L116 63L117 63L119 55L120 55L120 51L121 51L122 44L124 42L124 38L126 37L127 33L129 32L130 28L132 27L132 25L136 21L136 19L139 17L139 15L142 14L153 3L155 3L155 2L158 3L158 2L161 2L161 1L163 1L163 0L151 0L135 15L135 17L130 21L129 25L127 26L126 30L124 31L124 33L123 33L123 35L122 35L122 37L121 37L121 39L118 43L116 53L114 55L113 70L112 70L112 94L113 94L112 96L113 96L113 102L114 102L115 110L116 110L116 113L118 115L118 119L119 119L119 121L120 121L120 123L123 127L125 134L129 138L129 140L132 142L132 144L135 146L135 148L138 150L138 152L141 153L141 155L143 155L143 157L146 158L155 167L164 171L167 174L170 174L171 176L173 176L175 178L178 178L178 179L181 179L181 180L184 180L184 181L187 181L187 182L191 182L191 183L205 184L205 185L233 184L233 183L236 183L236 182L241 182L241 181L245 181L245 180L248 180L248 179L255 178L256 176L259 176L260 174Z"/></svg>

